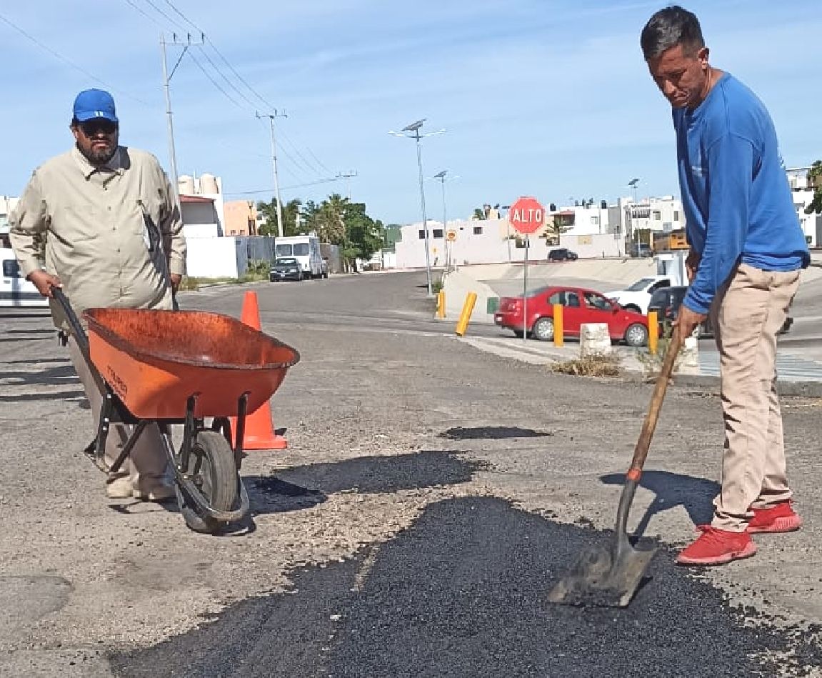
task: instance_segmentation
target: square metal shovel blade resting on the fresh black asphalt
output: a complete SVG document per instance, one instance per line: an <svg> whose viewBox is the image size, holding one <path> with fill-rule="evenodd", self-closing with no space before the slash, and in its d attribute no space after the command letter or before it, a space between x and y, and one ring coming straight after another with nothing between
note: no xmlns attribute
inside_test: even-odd
<svg viewBox="0 0 822 678"><path fill-rule="evenodd" d="M580 554L568 574L548 593L561 605L627 607L648 571L656 549L639 551L592 547Z"/></svg>

